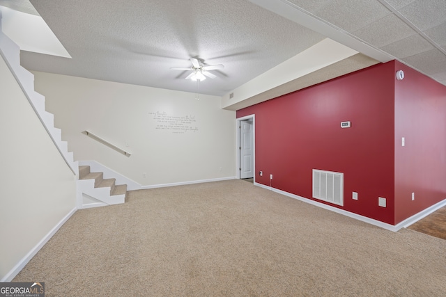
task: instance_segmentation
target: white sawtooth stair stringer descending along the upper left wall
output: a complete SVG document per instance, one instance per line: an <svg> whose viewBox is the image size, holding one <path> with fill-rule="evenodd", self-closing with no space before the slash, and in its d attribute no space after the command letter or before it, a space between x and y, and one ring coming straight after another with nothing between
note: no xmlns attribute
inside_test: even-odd
<svg viewBox="0 0 446 297"><path fill-rule="evenodd" d="M29 104L36 112L36 115L47 130L49 138L52 139L62 158L67 163L72 172L79 176L79 165L74 161L72 152L68 152L68 144L62 141L61 129L54 127L54 115L45 111L45 97L34 90L34 75L20 65L20 47L10 40L1 30L1 12L0 12L0 54L8 65L10 72L14 75L17 83Z"/></svg>

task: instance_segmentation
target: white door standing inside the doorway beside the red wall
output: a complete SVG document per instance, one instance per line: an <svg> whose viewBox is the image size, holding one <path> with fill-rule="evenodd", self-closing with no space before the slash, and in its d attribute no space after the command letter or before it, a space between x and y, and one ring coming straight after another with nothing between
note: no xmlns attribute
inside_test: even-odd
<svg viewBox="0 0 446 297"><path fill-rule="evenodd" d="M254 177L254 135L252 122L240 122L240 178Z"/></svg>

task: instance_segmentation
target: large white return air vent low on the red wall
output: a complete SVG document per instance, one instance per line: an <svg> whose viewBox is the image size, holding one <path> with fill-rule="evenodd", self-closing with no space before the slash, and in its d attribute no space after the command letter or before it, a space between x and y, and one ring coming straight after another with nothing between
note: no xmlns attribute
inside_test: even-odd
<svg viewBox="0 0 446 297"><path fill-rule="evenodd" d="M344 173L313 169L313 198L344 206Z"/></svg>

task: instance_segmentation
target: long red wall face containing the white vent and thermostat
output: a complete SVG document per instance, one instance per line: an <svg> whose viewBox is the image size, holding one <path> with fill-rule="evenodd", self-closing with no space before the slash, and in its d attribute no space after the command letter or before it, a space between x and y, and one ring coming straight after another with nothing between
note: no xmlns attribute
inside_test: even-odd
<svg viewBox="0 0 446 297"><path fill-rule="evenodd" d="M312 169L344 172L344 207L326 204L393 225L394 67L374 65L237 111L256 115L256 182L313 199ZM343 121L351 128L341 129Z"/></svg>

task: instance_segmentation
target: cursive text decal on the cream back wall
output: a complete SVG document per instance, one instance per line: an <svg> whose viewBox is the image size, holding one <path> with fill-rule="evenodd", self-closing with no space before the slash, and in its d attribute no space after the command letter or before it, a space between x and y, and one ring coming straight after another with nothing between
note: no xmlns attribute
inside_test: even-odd
<svg viewBox="0 0 446 297"><path fill-rule="evenodd" d="M197 120L195 115L169 115L165 111L148 113L156 121L155 130L168 131L173 134L185 134L187 132L197 132Z"/></svg>

